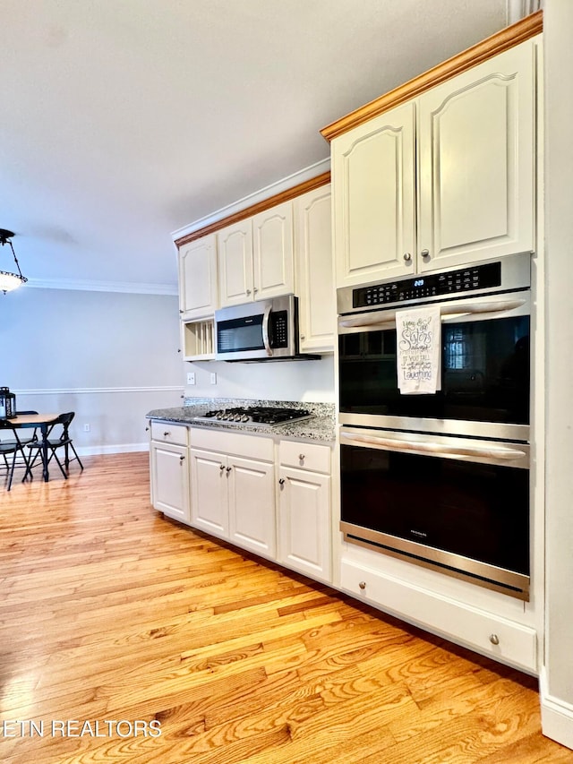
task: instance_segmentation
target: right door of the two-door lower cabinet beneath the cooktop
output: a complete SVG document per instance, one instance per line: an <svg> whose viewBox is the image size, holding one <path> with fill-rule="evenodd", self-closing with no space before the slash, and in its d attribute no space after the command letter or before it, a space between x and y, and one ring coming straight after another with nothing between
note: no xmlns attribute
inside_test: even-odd
<svg viewBox="0 0 573 764"><path fill-rule="evenodd" d="M274 466L229 456L229 539L263 557L275 559Z"/></svg>

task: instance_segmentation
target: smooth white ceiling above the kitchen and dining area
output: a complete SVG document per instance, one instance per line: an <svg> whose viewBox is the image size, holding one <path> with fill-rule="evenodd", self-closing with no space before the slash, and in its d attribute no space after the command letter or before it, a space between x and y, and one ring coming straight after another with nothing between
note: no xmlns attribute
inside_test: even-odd
<svg viewBox="0 0 573 764"><path fill-rule="evenodd" d="M507 23L506 0L0 0L0 227L32 285L175 293L173 231Z"/></svg>

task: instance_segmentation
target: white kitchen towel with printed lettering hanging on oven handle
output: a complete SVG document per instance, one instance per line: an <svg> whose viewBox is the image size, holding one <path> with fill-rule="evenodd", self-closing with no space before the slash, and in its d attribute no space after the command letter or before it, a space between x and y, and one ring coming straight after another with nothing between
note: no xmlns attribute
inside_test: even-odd
<svg viewBox="0 0 573 764"><path fill-rule="evenodd" d="M441 388L440 306L396 311L398 388L403 395Z"/></svg>

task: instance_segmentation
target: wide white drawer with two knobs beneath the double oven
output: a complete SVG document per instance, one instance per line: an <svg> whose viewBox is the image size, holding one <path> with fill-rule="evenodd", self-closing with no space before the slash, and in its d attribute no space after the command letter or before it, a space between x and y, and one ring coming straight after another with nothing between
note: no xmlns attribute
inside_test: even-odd
<svg viewBox="0 0 573 764"><path fill-rule="evenodd" d="M536 634L529 626L463 605L355 562L342 561L340 586L398 618L402 616L494 660L537 673Z"/></svg>

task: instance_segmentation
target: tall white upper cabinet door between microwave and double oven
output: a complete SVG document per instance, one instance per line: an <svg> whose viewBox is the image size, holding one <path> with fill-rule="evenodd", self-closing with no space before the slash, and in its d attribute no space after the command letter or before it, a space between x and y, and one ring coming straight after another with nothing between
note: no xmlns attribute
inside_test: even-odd
<svg viewBox="0 0 573 764"><path fill-rule="evenodd" d="M307 353L334 349L337 313L331 220L330 185L295 199L300 348Z"/></svg>

